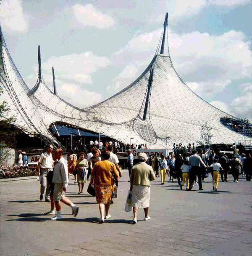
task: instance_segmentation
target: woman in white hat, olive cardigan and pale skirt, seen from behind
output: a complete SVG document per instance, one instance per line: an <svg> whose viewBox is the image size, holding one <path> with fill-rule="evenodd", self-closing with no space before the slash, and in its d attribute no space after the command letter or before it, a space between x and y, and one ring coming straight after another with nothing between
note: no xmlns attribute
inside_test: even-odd
<svg viewBox="0 0 252 256"><path fill-rule="evenodd" d="M131 205L133 206L134 219L133 224L137 223L137 212L139 208L144 208L145 220L150 219L150 181L155 180L155 174L150 165L145 163L148 157L145 153L138 155L138 161L133 166L130 175Z"/></svg>

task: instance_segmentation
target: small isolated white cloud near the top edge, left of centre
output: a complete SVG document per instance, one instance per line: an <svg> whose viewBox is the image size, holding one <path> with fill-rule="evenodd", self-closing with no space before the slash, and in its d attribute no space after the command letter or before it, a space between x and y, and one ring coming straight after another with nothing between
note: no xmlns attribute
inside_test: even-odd
<svg viewBox="0 0 252 256"><path fill-rule="evenodd" d="M79 22L79 27L105 29L114 25L114 20L111 16L98 11L92 4L85 6L76 4L73 6L73 10L74 16ZM78 26L78 24L74 25Z"/></svg>

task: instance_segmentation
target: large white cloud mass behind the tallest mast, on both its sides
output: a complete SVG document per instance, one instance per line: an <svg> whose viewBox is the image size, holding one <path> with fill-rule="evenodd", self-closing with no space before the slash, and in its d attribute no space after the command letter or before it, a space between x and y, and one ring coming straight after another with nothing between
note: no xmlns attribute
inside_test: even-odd
<svg viewBox="0 0 252 256"><path fill-rule="evenodd" d="M161 33L162 29L158 29L132 38L114 53L113 64L119 59L126 60L126 65L134 63L136 69L144 67L139 60L152 56ZM251 77L252 52L242 32L232 30L220 36L200 32L178 35L168 30L168 37L176 71L203 98L223 91L231 84L231 77L237 80Z"/></svg>

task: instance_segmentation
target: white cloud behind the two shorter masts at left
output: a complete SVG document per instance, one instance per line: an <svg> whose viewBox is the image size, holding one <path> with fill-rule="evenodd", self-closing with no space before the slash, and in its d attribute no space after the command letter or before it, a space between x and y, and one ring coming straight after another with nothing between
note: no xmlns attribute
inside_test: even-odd
<svg viewBox="0 0 252 256"><path fill-rule="evenodd" d="M55 71L55 84L60 98L76 107L87 107L101 100L101 94L84 88L93 83L92 74L99 68L110 64L106 57L95 56L91 51L81 54L50 57L42 64L42 73L45 83L52 88L52 67ZM34 73L26 79L29 88L37 81L37 65L33 67Z"/></svg>

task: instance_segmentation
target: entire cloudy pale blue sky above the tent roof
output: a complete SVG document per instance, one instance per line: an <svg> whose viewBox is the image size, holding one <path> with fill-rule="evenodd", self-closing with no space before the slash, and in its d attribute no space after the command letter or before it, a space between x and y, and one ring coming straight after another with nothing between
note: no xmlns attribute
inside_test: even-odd
<svg viewBox="0 0 252 256"><path fill-rule="evenodd" d="M215 107L252 120L252 0L1 0L8 50L29 88L37 49L45 83L60 98L97 104L148 66L168 12L176 72Z"/></svg>

